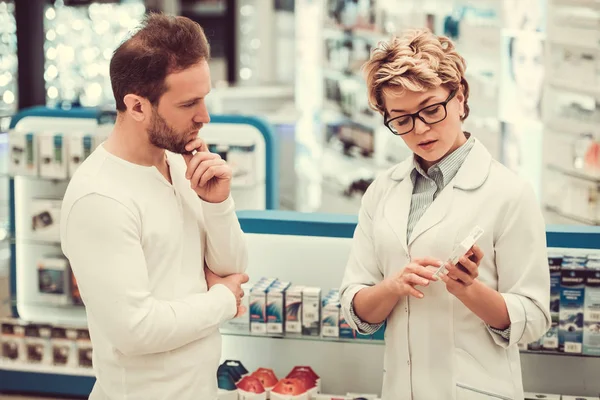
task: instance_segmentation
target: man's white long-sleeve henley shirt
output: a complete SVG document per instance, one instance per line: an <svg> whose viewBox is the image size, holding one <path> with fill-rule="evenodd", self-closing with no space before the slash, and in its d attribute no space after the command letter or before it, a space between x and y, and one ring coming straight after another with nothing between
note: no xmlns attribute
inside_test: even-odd
<svg viewBox="0 0 600 400"><path fill-rule="evenodd" d="M231 198L203 202L185 161L155 167L99 146L69 183L61 243L86 306L94 348L92 400L215 399L218 326L236 313L218 275L243 272L247 249Z"/></svg>

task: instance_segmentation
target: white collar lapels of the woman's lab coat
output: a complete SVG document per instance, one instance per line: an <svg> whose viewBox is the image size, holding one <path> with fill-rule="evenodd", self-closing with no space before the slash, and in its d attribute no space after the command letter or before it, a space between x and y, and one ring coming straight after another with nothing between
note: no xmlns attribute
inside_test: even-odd
<svg viewBox="0 0 600 400"><path fill-rule="evenodd" d="M465 159L454 178L453 186L461 190L475 190L486 181L492 165L492 155L485 146L475 139L471 152ZM410 179L410 173L414 169L413 158L404 160L392 171L390 177L398 182Z"/></svg>

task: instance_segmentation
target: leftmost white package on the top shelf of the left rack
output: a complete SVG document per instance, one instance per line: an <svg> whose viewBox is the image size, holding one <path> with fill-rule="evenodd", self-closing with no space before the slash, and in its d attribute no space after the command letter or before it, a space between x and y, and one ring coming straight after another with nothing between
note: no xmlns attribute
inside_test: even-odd
<svg viewBox="0 0 600 400"><path fill-rule="evenodd" d="M37 176L38 141L34 132L11 131L9 140L9 173Z"/></svg>

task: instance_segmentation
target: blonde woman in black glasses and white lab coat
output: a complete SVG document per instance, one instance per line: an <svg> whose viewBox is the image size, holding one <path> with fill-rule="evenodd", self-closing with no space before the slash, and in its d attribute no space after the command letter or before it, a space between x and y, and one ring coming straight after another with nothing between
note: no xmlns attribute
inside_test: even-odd
<svg viewBox="0 0 600 400"><path fill-rule="evenodd" d="M387 322L382 398L522 399L517 343L550 327L535 195L462 131L469 87L450 40L408 32L365 71L371 105L414 153L365 193L341 287L353 328ZM436 279L475 226L478 244Z"/></svg>

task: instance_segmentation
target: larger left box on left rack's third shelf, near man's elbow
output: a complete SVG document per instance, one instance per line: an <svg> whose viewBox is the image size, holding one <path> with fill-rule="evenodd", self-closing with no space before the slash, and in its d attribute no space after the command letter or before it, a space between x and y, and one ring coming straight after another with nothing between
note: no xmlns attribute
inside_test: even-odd
<svg viewBox="0 0 600 400"><path fill-rule="evenodd" d="M62 256L47 256L38 261L37 269L38 291L44 295L44 301L70 304L69 261Z"/></svg>

